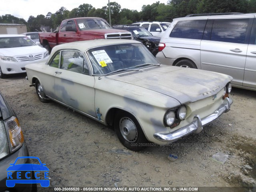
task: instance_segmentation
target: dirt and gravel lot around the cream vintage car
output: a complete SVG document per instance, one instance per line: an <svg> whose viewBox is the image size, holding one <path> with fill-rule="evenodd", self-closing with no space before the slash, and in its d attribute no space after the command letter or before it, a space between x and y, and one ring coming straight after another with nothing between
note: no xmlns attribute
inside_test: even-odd
<svg viewBox="0 0 256 192"><path fill-rule="evenodd" d="M0 79L0 90L18 115L30 156L50 169L50 186L256 186L256 92L233 88L230 112L200 134L132 152L111 127L40 102L25 76ZM118 149L131 155L110 151ZM218 152L228 154L224 164L211 159ZM178 160L168 160L170 153Z"/></svg>

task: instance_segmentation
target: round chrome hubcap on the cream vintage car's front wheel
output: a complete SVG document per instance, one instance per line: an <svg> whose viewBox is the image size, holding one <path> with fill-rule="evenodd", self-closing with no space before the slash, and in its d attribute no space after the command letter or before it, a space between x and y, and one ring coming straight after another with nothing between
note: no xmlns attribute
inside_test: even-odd
<svg viewBox="0 0 256 192"><path fill-rule="evenodd" d="M138 138L137 128L130 118L122 118L119 123L119 128L122 136L126 141L133 143Z"/></svg>

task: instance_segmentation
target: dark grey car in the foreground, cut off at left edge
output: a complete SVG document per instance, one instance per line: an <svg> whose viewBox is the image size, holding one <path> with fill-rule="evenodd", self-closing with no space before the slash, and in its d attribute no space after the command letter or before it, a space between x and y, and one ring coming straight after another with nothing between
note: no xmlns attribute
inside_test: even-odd
<svg viewBox="0 0 256 192"><path fill-rule="evenodd" d="M22 129L16 114L8 105L0 92L0 192L36 192L35 184L16 184L12 188L6 187L7 171L16 158L29 156L24 142ZM28 164L30 160L22 159L20 164ZM17 171L11 171L16 175ZM32 174L33 175L33 174ZM21 175L21 179L25 176Z"/></svg>

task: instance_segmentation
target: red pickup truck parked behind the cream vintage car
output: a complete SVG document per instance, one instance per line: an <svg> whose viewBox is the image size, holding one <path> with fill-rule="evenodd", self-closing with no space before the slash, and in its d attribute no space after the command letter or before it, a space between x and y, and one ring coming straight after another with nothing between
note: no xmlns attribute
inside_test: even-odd
<svg viewBox="0 0 256 192"><path fill-rule="evenodd" d="M58 32L40 32L40 44L51 52L58 44L94 39L131 39L126 30L112 29L102 18L81 17L63 20Z"/></svg>

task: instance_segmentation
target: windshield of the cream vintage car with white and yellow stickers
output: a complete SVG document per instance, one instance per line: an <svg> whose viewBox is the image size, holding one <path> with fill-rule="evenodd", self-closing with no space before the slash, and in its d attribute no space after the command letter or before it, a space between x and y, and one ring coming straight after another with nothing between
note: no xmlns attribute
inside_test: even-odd
<svg viewBox="0 0 256 192"><path fill-rule="evenodd" d="M116 44L92 48L86 52L94 75L108 75L126 70L159 65L143 44Z"/></svg>

